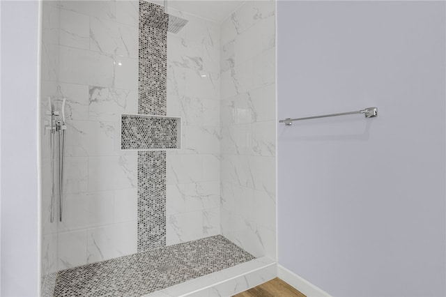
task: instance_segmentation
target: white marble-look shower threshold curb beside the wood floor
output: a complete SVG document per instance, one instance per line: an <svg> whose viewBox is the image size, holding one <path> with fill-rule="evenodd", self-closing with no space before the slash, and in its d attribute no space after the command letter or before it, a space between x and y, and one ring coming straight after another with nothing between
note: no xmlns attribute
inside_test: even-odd
<svg viewBox="0 0 446 297"><path fill-rule="evenodd" d="M261 257L155 291L144 297L233 296L275 277L276 262L268 257Z"/></svg>

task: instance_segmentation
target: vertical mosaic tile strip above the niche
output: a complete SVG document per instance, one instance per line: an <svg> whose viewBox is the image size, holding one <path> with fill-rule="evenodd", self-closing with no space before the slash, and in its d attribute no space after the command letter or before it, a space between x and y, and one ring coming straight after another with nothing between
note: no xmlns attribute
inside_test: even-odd
<svg viewBox="0 0 446 297"><path fill-rule="evenodd" d="M162 6L139 1L139 114L166 115L168 23Z"/></svg>

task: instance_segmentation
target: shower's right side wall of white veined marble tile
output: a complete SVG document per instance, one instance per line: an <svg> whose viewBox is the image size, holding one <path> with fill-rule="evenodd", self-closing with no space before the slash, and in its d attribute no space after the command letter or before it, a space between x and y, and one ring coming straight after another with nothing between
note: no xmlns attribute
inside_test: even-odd
<svg viewBox="0 0 446 297"><path fill-rule="evenodd" d="M222 235L275 259L275 1L246 1L221 25Z"/></svg>

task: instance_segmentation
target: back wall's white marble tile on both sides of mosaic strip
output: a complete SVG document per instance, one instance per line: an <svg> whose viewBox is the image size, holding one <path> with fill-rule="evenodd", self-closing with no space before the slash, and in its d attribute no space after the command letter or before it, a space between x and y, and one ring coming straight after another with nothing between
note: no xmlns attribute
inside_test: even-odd
<svg viewBox="0 0 446 297"><path fill-rule="evenodd" d="M59 84L68 123L63 221L50 225L54 271L137 252L138 157L120 150L120 121L138 113L138 8L54 6L60 33L50 50L60 54L47 94ZM220 234L220 27L169 13L190 22L167 36L167 116L183 118L183 149L167 153L167 245Z"/></svg>

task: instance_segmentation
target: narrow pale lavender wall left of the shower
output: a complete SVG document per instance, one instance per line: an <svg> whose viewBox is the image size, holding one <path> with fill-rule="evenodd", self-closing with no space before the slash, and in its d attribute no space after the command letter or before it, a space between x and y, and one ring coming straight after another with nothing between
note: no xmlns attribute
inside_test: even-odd
<svg viewBox="0 0 446 297"><path fill-rule="evenodd" d="M38 296L38 1L1 1L1 296Z"/></svg>

